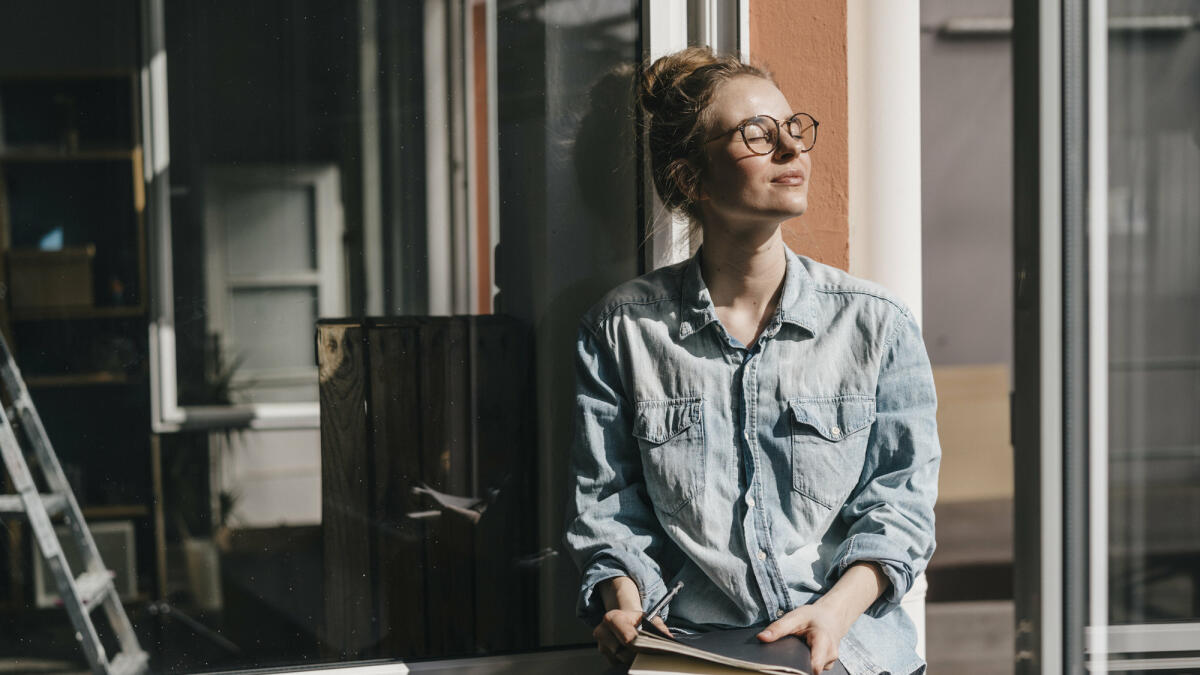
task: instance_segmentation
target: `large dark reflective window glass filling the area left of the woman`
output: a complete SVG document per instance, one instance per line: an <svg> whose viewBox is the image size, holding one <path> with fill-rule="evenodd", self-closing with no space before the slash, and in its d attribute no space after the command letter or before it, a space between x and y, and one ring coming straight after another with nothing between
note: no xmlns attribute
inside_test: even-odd
<svg viewBox="0 0 1200 675"><path fill-rule="evenodd" d="M0 328L14 319L89 522L132 530L104 556L132 566L152 670L581 644L600 671L559 550L563 447L577 322L640 271L640 2L143 5L162 8L164 92L140 77L137 2L0 10L0 154L55 155L19 175L0 161L13 243L67 280L25 306L10 293ZM4 88L94 70L124 89ZM163 94L169 166L146 186L132 125ZM316 274L271 279L296 273ZM151 322L173 330L187 419L244 417L151 428ZM344 325L359 336L314 340ZM300 413L276 429L251 408ZM0 670L88 670L61 610L29 604L32 538L12 532Z"/></svg>

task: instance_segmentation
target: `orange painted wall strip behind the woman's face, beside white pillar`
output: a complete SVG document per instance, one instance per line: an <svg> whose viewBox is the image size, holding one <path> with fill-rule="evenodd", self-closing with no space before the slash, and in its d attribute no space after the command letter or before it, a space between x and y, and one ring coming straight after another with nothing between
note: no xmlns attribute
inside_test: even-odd
<svg viewBox="0 0 1200 675"><path fill-rule="evenodd" d="M775 76L792 108L821 123L809 210L784 223L798 253L850 265L846 0L751 0L750 62Z"/></svg>

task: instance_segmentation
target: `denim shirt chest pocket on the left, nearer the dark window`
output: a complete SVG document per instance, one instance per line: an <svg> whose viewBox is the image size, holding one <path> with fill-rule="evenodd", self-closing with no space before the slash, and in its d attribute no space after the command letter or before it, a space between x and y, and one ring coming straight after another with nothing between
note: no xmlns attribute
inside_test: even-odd
<svg viewBox="0 0 1200 675"><path fill-rule="evenodd" d="M674 514L704 489L704 417L700 396L640 401L634 437L642 452L646 490Z"/></svg>

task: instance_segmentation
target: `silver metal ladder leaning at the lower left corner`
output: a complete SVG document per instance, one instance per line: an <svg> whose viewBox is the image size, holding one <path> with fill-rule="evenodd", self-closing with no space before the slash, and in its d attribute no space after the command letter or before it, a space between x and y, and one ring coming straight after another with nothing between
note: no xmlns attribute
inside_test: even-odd
<svg viewBox="0 0 1200 675"><path fill-rule="evenodd" d="M62 466L54 455L46 428L34 408L25 382L17 370L7 342L0 335L0 386L10 406L0 414L0 454L4 465L12 477L16 494L0 495L0 516L18 515L29 520L34 538L42 557L54 577L62 605L71 617L76 629L76 639L83 647L84 656L96 675L136 675L146 673L149 656L138 645L137 634L130 623L125 608L113 584L113 575L100 560L96 542L91 538L88 524L84 522L79 503L67 484ZM46 494L38 494L34 474L25 461L25 450L18 440L18 431L24 437L31 454L42 468ZM50 524L55 515L62 515L74 540L85 569L78 577L73 575L67 558L62 552L58 532ZM104 608L104 615L120 644L120 653L108 658L91 613Z"/></svg>

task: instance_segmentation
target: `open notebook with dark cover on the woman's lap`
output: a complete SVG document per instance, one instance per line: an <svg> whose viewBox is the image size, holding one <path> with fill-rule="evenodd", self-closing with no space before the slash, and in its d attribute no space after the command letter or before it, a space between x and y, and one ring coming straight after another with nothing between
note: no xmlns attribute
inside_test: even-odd
<svg viewBox="0 0 1200 675"><path fill-rule="evenodd" d="M638 656L629 673L809 675L812 657L803 639L786 635L774 643L763 643L756 638L761 631L762 627L754 627L667 637L653 626L643 628L630 644ZM840 662L826 673L848 675Z"/></svg>

